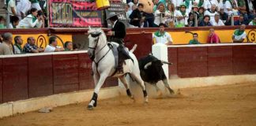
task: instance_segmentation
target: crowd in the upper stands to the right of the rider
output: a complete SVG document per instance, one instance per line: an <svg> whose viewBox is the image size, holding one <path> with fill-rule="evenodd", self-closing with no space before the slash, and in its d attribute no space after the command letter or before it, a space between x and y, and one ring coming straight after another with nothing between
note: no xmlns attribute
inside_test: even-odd
<svg viewBox="0 0 256 126"><path fill-rule="evenodd" d="M255 25L255 0L152 0L152 13L145 13L138 0L126 0L130 27L168 27ZM150 20L149 20L150 19Z"/></svg>

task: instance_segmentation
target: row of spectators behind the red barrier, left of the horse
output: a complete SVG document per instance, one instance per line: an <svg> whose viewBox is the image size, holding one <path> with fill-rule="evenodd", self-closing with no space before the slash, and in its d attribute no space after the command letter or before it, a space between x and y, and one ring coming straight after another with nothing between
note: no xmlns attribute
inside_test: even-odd
<svg viewBox="0 0 256 126"><path fill-rule="evenodd" d="M49 38L49 44L45 49L42 47L36 46L36 39L34 37L28 37L27 43L23 44L23 39L21 35L14 37L13 44L13 35L9 32L6 32L1 35L0 39L0 55L12 55L12 54L32 54L32 53L49 53L49 52L59 52L59 51L72 51L73 43L66 41L63 47L58 46L57 38L51 36Z"/></svg>

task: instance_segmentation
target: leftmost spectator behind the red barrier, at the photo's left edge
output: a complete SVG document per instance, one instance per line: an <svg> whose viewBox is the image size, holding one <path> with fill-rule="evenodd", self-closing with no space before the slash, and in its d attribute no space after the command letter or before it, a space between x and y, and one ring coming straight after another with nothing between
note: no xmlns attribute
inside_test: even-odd
<svg viewBox="0 0 256 126"><path fill-rule="evenodd" d="M9 32L2 35L3 42L0 44L0 55L13 54L13 35Z"/></svg>

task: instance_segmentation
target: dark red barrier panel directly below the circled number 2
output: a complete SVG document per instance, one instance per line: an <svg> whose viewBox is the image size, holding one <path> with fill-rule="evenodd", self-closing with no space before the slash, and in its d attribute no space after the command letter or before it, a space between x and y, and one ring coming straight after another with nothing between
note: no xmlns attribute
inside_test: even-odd
<svg viewBox="0 0 256 126"><path fill-rule="evenodd" d="M53 95L52 55L28 57L29 98Z"/></svg>

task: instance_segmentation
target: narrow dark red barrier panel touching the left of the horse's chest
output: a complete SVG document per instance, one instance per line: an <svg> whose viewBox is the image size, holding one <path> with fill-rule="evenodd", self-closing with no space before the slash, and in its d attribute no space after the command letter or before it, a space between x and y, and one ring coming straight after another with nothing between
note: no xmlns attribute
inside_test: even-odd
<svg viewBox="0 0 256 126"><path fill-rule="evenodd" d="M78 54L79 59L79 90L94 88L92 73L92 61L88 54Z"/></svg>

